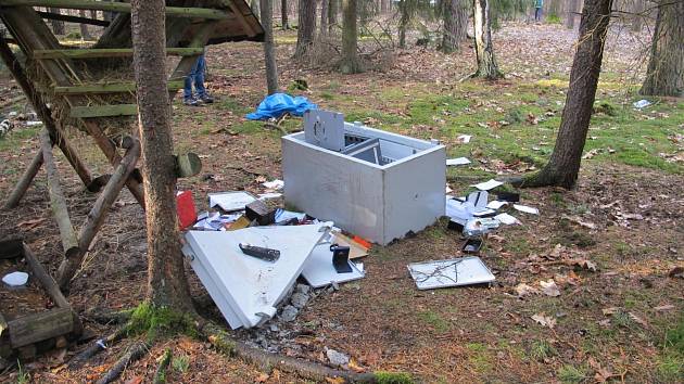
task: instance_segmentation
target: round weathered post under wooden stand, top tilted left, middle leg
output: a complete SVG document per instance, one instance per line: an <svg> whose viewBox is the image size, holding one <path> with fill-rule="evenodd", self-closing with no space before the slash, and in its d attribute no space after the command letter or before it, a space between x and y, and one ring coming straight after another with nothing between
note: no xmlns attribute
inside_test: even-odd
<svg viewBox="0 0 684 384"><path fill-rule="evenodd" d="M48 130L43 130L40 133L40 150L42 151L42 161L46 165L46 172L48 174L48 190L50 192L52 214L60 229L60 238L64 246L65 257L71 258L79 253L78 239L74 232L72 220L68 217L66 200L60 187L60 174L58 172L54 157L52 156L52 141L50 140Z"/></svg>

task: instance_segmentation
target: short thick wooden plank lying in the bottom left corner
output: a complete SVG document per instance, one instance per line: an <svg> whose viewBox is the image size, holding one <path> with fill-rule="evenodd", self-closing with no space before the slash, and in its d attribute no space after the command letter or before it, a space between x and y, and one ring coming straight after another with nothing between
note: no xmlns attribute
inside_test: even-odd
<svg viewBox="0 0 684 384"><path fill-rule="evenodd" d="M23 316L8 322L13 348L67 334L74 330L74 316L68 308Z"/></svg>

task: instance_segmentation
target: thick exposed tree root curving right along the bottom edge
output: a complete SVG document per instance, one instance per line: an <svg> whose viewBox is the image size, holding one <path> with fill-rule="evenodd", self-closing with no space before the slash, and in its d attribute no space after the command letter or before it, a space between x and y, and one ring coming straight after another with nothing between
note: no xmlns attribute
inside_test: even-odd
<svg viewBox="0 0 684 384"><path fill-rule="evenodd" d="M219 325L207 322L202 327L202 333L207 341L220 353L240 358L246 362L257 364L264 369L278 368L284 372L296 373L309 380L324 381L326 377L340 377L350 383L377 383L373 373L355 373L332 369L320 363L300 360L282 355L269 354L237 342Z"/></svg>

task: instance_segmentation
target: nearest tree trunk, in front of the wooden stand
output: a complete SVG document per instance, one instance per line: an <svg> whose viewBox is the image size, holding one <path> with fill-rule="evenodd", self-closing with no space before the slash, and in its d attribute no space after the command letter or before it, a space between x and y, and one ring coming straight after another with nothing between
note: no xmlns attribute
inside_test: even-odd
<svg viewBox="0 0 684 384"><path fill-rule="evenodd" d="M176 216L176 162L166 89L164 0L132 0L134 71L148 232L148 299L192 311Z"/></svg>

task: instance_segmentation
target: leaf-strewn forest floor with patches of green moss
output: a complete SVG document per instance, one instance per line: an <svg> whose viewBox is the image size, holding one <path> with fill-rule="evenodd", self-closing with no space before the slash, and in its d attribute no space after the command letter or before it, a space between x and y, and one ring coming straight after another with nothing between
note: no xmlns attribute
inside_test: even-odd
<svg viewBox="0 0 684 384"><path fill-rule="evenodd" d="M539 169L553 151L573 31L505 25L494 35L507 74L497 82L459 82L473 71L467 44L452 55L421 47L377 54L370 71L344 76L329 67L292 64L294 36L277 35L283 88L305 79L309 89L300 93L347 120L439 139L448 157L471 158L468 166L448 169L455 194L489 178ZM684 268L684 102L650 99L654 105L647 108L632 106L642 99L634 91L648 40L646 31L611 31L579 185L522 191L523 204L537 207L540 215L516 213L521 226L489 236L481 258L496 276L493 285L416 290L407 264L459 254L461 239L442 220L409 239L373 246L365 259L365 279L324 291L293 323L280 323L277 332L235 335L255 344L265 337L281 354L322 363L325 348L333 348L350 355L355 369L408 372L426 383L681 382L684 279L675 268ZM216 103L198 108L183 106L179 98L174 103L176 150L195 152L203 161L200 176L179 181L180 189L193 192L199 209L206 209L208 192L262 192L256 175L282 176L280 132L244 118L264 97L262 57L257 43L212 47L208 86ZM283 127L300 125L289 118ZM458 142L464 133L472 135L470 143ZM9 193L37 151L36 135L35 128L21 128L0 140L0 194ZM94 170L107 171L88 138L73 136ZM83 222L96 196L83 190L63 158L60 167L73 220ZM0 238L23 235L55 271L62 251L42 172L18 208L0 213ZM145 247L143 213L126 192L72 282L69 300L89 332L103 336L113 327L91 321L88 310L132 308L143 299ZM205 295L190 268L188 276L193 294ZM540 282L549 279L558 295L541 289ZM223 321L213 304L205 315ZM85 345L25 362L22 372L35 382L92 381L130 343L109 348L77 371L63 362ZM155 359L167 347L176 356L169 382L304 381L178 336L157 343L121 382L150 382ZM16 368L0 371L0 382L20 376Z"/></svg>

